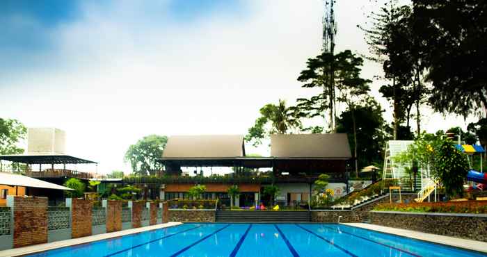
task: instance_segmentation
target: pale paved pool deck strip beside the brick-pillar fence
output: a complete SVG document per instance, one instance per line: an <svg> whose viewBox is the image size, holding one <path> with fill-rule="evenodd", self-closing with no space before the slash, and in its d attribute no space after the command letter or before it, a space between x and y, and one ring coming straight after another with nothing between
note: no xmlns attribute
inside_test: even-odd
<svg viewBox="0 0 487 257"><path fill-rule="evenodd" d="M70 246L76 245L76 244L86 244L88 242L93 242L93 241L97 241L97 240L104 240L104 239L109 239L109 238L118 238L122 235L130 235L133 233L140 233L140 232L150 231L150 230L154 230L154 229L163 229L163 228L167 228L169 226L177 226L180 224L182 224L182 222L168 222L168 223L164 223L164 224L157 224L154 226L144 226L144 227L137 228L137 229L127 229L124 231L103 233L103 234L99 234L99 235L90 235L90 236L86 236L83 238L74 238L74 239L61 240L61 241L56 241L56 242L48 242L47 244L35 244L35 245L31 245L29 247L20 247L20 248L0 251L0 257L22 256L22 255L27 255L27 254L35 254L35 253L38 253L40 251L47 251L47 250L56 249L56 248L60 248L60 247L70 247Z"/></svg>

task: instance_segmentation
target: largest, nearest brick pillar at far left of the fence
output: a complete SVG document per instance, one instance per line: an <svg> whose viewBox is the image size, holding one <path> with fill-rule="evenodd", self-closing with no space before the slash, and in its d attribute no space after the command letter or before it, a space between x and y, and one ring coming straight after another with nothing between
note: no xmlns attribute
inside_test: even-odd
<svg viewBox="0 0 487 257"><path fill-rule="evenodd" d="M7 206L13 213L13 247L47 242L47 197L9 195Z"/></svg>

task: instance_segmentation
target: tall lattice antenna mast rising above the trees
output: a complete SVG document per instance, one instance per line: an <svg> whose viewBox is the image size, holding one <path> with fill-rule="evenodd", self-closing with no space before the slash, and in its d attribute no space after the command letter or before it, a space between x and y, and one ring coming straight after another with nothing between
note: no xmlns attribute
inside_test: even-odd
<svg viewBox="0 0 487 257"><path fill-rule="evenodd" d="M335 13L333 5L335 0L324 0L323 15L323 52L335 54L335 35L337 34L337 24L335 23ZM336 132L336 99L335 99L335 72L333 62L330 63L329 74L326 76L324 94L328 95L328 110L330 111L330 131Z"/></svg>

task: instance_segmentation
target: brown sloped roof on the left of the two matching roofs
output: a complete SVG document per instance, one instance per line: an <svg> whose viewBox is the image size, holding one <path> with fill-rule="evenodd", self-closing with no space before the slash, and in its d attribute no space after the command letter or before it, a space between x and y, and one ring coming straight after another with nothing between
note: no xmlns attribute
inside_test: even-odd
<svg viewBox="0 0 487 257"><path fill-rule="evenodd" d="M245 156L244 135L173 135L162 158L237 158Z"/></svg>

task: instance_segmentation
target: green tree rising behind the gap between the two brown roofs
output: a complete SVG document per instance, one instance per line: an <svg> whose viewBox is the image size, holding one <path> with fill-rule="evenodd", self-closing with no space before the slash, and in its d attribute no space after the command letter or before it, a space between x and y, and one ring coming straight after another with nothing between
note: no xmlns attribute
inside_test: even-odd
<svg viewBox="0 0 487 257"><path fill-rule="evenodd" d="M260 117L255 120L254 126L248 128L247 142L253 142L254 146L262 144L262 140L271 134L286 134L301 126L294 108L286 106L284 100L279 100L278 105L266 104L260 108Z"/></svg>

